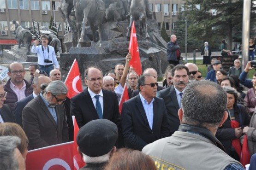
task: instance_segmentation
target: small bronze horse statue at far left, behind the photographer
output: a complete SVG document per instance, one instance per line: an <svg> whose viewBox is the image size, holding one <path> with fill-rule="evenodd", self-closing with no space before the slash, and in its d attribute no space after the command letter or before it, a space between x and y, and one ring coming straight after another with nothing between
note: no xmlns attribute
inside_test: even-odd
<svg viewBox="0 0 256 170"><path fill-rule="evenodd" d="M12 23L15 25L15 34L18 38L18 48L20 48L20 44L23 42L28 49L26 55L29 55L33 34L31 34L29 29L22 28L22 26L20 26L15 20L12 20Z"/></svg>

